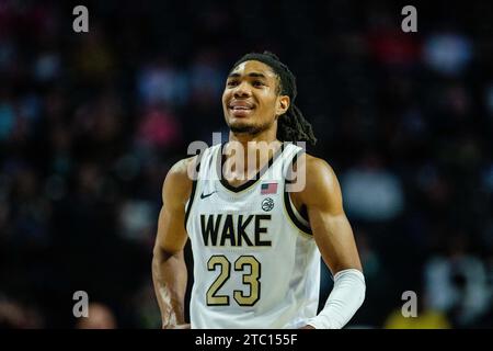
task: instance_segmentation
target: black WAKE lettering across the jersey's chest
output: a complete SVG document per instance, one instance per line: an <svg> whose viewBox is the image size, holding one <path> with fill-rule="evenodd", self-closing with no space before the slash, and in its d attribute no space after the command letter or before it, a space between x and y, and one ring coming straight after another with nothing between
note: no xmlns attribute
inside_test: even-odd
<svg viewBox="0 0 493 351"><path fill-rule="evenodd" d="M225 218L223 220L221 220ZM267 228L262 220L271 220L271 215L200 215L202 237L205 246L231 247L264 247L272 246L271 240L262 240L261 235L267 235ZM234 223L237 224L234 226ZM253 228L252 228L253 227ZM253 229L253 233L252 233ZM218 242L218 237L219 242Z"/></svg>

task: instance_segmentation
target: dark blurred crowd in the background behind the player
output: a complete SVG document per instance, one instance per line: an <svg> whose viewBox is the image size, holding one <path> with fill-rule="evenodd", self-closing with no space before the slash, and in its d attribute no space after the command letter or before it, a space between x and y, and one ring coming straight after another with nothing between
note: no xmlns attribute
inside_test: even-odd
<svg viewBox="0 0 493 351"><path fill-rule="evenodd" d="M348 327L493 327L493 5L461 2L403 33L391 1L85 1L74 33L69 3L0 0L0 328L160 327L162 181L227 136L226 76L264 49L342 184L367 281Z"/></svg>

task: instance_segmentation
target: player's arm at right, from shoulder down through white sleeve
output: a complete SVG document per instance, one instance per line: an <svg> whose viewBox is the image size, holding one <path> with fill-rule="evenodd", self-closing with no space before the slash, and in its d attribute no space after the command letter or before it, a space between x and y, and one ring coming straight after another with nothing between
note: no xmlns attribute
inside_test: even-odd
<svg viewBox="0 0 493 351"><path fill-rule="evenodd" d="M337 273L346 274L346 283L351 284L351 280L356 280L356 286L362 291L355 296L347 292L336 292L337 280L334 279L334 290L329 297L328 305L331 303L331 298L340 298L339 303L342 305L347 303L346 310L343 310L347 313L347 316L341 318L341 321L336 324L342 327L341 325L347 322L347 318L352 317L364 298L363 269L353 230L343 210L341 186L329 163L307 155L299 159L298 167L306 167L308 176L303 191L291 194L295 206L307 206L313 238L332 274L335 278L340 278ZM354 274L355 270L359 274Z"/></svg>

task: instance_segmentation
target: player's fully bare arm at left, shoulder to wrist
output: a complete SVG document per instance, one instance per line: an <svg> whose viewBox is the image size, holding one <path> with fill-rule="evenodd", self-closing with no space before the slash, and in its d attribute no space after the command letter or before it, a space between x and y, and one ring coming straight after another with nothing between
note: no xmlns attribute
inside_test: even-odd
<svg viewBox="0 0 493 351"><path fill-rule="evenodd" d="M192 192L190 169L196 157L176 162L162 186L163 205L152 258L152 280L163 328L186 328L184 297L187 272L183 249L187 240L185 204Z"/></svg>

